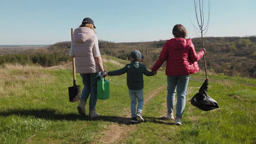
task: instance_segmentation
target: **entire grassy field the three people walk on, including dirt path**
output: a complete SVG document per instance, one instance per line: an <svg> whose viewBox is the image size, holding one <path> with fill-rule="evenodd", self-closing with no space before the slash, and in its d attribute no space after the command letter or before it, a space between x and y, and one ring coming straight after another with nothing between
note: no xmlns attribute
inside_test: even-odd
<svg viewBox="0 0 256 144"><path fill-rule="evenodd" d="M127 61L104 56L107 71ZM0 144L127 143L237 144L256 143L256 79L209 75L208 95L220 108L201 111L190 99L203 83L203 74L190 75L182 125L166 115L166 75L144 76L144 123L130 124L126 75L108 76L110 98L98 100L100 117L78 114L70 103L70 67L46 69L7 65L0 69ZM77 74L78 84L82 79ZM88 113L88 105L86 105ZM174 112L175 114L175 112Z"/></svg>

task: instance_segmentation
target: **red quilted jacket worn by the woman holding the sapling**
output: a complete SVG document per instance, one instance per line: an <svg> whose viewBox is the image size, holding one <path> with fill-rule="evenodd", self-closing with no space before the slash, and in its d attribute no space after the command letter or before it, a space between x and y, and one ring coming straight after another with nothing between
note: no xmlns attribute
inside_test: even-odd
<svg viewBox="0 0 256 144"><path fill-rule="evenodd" d="M157 71L166 61L165 74L168 76L193 74L199 72L197 61L203 55L202 50L196 53L191 39L170 39L164 44L159 59L151 70Z"/></svg>

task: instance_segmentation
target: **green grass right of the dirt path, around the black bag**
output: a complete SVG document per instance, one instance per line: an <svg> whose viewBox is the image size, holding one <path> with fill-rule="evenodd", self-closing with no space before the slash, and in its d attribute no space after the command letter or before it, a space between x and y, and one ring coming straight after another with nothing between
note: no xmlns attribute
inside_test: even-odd
<svg viewBox="0 0 256 144"><path fill-rule="evenodd" d="M190 81L188 87L193 88L187 95L187 104L182 126L174 125L174 120L162 118L166 115L165 95L163 91L145 106L144 118L141 123L128 134L123 143L128 144L237 144L256 142L255 104L230 97L233 88L242 90L244 85L227 85L211 83L208 95L217 100L219 109L201 111L190 104L201 82ZM196 89L197 88L197 89ZM219 90L222 91L219 91ZM255 92L255 91L254 91ZM243 94L241 94L243 97ZM255 97L253 97L255 101ZM175 111L174 111L175 115Z"/></svg>

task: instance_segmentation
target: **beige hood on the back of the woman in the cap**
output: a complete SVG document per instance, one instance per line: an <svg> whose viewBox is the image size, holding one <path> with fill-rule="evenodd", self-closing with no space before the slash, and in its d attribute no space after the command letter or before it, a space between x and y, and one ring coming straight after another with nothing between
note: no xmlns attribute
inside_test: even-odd
<svg viewBox="0 0 256 144"><path fill-rule="evenodd" d="M94 36L95 32L88 27L79 27L73 33L73 39L77 43L84 43L90 37Z"/></svg>

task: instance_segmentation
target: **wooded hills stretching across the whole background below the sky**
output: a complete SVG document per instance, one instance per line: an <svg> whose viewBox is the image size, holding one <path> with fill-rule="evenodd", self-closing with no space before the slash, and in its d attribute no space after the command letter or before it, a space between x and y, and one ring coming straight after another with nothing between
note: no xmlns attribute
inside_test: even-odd
<svg viewBox="0 0 256 144"><path fill-rule="evenodd" d="M141 62L148 69L154 65L167 40L153 42L114 43L99 40L102 55L114 56L128 60L132 50L140 50L145 56ZM193 38L195 49L201 49L201 39ZM207 69L210 72L223 73L229 76L246 76L256 78L256 36L247 37L205 37L204 46ZM69 49L71 42L59 42L49 46L37 54L7 54L0 56L3 63L39 64L42 66L59 65L60 62L71 60ZM198 61L203 69L203 60ZM163 65L164 67L164 65Z"/></svg>

